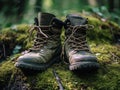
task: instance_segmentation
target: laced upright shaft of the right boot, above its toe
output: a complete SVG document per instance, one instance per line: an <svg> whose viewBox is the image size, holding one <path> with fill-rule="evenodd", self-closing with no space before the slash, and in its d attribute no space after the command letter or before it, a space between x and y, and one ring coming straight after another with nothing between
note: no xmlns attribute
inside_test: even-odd
<svg viewBox="0 0 120 90"><path fill-rule="evenodd" d="M67 15L66 18L65 35L68 48L79 51L89 51L86 40L88 20L75 14Z"/></svg>

